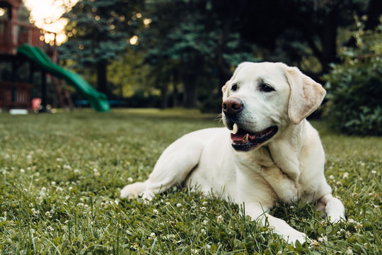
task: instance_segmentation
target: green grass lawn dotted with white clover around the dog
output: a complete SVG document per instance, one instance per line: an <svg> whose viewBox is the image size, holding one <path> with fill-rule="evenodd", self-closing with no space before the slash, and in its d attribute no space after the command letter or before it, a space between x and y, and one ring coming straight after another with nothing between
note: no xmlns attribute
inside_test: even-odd
<svg viewBox="0 0 382 255"><path fill-rule="evenodd" d="M382 137L346 137L314 122L325 176L345 205L331 225L312 203L273 215L316 240L290 246L240 208L175 187L150 203L120 200L170 142L221 126L196 111L0 114L0 254L382 254Z"/></svg>

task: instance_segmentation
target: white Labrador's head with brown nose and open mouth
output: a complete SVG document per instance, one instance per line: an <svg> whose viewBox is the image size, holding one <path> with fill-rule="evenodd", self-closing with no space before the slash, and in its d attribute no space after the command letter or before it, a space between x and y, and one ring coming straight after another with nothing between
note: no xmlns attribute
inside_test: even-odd
<svg viewBox="0 0 382 255"><path fill-rule="evenodd" d="M222 88L223 121L238 151L256 149L320 106L325 89L283 63L239 64Z"/></svg>

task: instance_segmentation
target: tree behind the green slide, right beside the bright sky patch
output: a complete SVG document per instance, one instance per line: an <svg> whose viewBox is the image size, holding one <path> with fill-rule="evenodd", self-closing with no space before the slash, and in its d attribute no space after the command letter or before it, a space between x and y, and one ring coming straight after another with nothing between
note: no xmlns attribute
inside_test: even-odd
<svg viewBox="0 0 382 255"><path fill-rule="evenodd" d="M129 45L139 28L141 0L81 0L68 13L67 42L59 48L62 60L74 67L93 68L98 90L110 96L107 67Z"/></svg>

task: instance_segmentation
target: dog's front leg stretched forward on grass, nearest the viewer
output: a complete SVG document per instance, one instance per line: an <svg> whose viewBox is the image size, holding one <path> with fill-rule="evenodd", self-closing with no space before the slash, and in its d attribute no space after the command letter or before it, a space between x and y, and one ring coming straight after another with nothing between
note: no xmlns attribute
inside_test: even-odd
<svg viewBox="0 0 382 255"><path fill-rule="evenodd" d="M272 232L279 234L289 244L295 244L299 240L303 244L308 240L306 234L289 226L287 222L268 214L268 208L262 208L260 203L245 204L245 214L260 223L262 226L269 225Z"/></svg>

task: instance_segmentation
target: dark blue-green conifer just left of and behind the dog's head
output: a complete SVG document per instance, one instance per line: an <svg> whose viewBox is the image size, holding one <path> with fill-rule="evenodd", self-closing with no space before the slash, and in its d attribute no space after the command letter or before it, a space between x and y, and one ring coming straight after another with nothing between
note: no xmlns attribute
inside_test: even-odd
<svg viewBox="0 0 382 255"><path fill-rule="evenodd" d="M236 6L230 1L224 3L226 13ZM240 34L231 30L232 20L237 18L233 14L223 17L224 13L216 9L221 7L221 2L212 0L157 0L148 1L143 11L151 19L149 28L140 36L141 45L147 49L146 62L160 76L157 80L161 81L163 93L168 91L166 77L183 84L185 107L197 106L200 85L220 94L231 66L238 64L234 60L243 59L243 55L237 55L245 53L246 60L255 59Z"/></svg>

